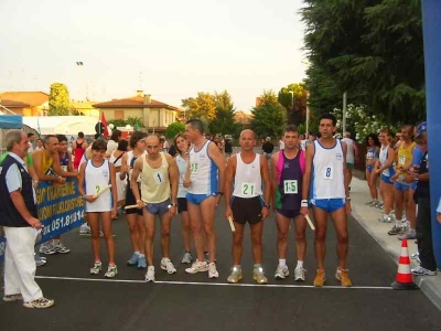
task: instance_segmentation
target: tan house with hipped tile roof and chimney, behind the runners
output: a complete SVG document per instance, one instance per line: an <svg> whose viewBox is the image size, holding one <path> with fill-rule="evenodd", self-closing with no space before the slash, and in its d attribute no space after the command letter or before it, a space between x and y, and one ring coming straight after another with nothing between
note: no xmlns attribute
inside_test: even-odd
<svg viewBox="0 0 441 331"><path fill-rule="evenodd" d="M178 107L154 100L150 94L137 90L137 95L123 99L114 99L107 103L93 105L104 111L107 120L141 118L148 131L164 132L169 125L176 121Z"/></svg>

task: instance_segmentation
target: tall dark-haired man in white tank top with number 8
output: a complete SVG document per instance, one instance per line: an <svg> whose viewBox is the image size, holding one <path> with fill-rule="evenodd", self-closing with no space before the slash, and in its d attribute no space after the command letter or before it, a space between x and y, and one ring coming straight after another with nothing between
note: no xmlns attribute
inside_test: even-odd
<svg viewBox="0 0 441 331"><path fill-rule="evenodd" d="M318 271L313 281L316 287L325 284L324 256L326 253L327 218L332 217L337 234L338 265L335 278L342 286L349 287L346 269L348 238L347 215L351 213L348 173L346 168L345 142L333 138L336 131L336 118L324 114L320 118L321 138L306 148L306 168L303 177L301 213L308 215L308 197L311 194L312 211L315 221L315 259ZM311 185L311 188L310 188ZM310 191L310 192L309 192Z"/></svg>

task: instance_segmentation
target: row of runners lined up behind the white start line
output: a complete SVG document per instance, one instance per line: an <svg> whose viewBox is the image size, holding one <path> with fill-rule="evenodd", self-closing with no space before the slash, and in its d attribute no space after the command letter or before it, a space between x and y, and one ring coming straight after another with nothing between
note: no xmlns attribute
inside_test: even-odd
<svg viewBox="0 0 441 331"><path fill-rule="evenodd" d="M105 141L95 141L92 146L90 160L79 168L79 186L80 194L86 201L85 211L89 217L94 243L99 243L97 220L100 216L103 221L104 236L109 249L109 267L105 276L114 277L118 273L111 238L111 214L116 213L116 188L112 185L107 194L101 194L96 200L93 195L97 185L111 184L116 173L128 182L125 211L133 254L127 263L147 269L146 281L155 280L153 241L157 217L161 226L160 268L168 274L176 273L170 258L171 220L176 213L182 217L185 249L182 263L191 264L185 271L207 273L208 278L219 277L216 268L215 211L224 197L225 222L232 220L235 229L232 247L233 267L227 277L228 282L238 282L243 278L240 259L247 222L250 225L252 243L252 278L257 284L268 282L262 268L261 242L263 220L271 211L276 213L278 228L279 264L275 278L284 279L290 274L287 247L289 225L293 220L298 259L294 279L304 281L305 216L312 206L316 227L314 250L318 263L313 284L320 287L325 282L325 237L327 218L331 216L337 233L338 264L335 277L343 286L351 286L346 268L347 214L351 212L345 161L346 143L333 137L336 129L334 116L329 114L322 116L319 129L321 138L303 151L300 148L298 129L288 126L283 132L284 149L271 157L272 167L268 166L265 157L255 152L256 136L251 130L244 130L240 134L240 151L228 158L225 164L225 158L218 147L204 138L203 124L198 119L189 120L185 134L175 137L173 141L178 150L175 158L161 150L161 142L157 136L147 136L141 131L133 132L129 143L131 151L122 156L119 171L112 170L112 164L105 160ZM96 206L100 204L103 207L97 209ZM106 209L104 204L107 204ZM96 220L90 218L92 214ZM195 259L191 254L192 238L196 250ZM101 270L96 245L98 244L93 245L95 263L90 274L99 274Z"/></svg>

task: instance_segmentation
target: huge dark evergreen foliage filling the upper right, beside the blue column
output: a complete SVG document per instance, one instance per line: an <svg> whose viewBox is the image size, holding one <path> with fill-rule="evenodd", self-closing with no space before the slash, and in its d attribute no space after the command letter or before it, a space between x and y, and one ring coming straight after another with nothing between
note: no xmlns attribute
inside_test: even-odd
<svg viewBox="0 0 441 331"><path fill-rule="evenodd" d="M304 0L306 79L320 113L365 104L388 122L424 118L420 0Z"/></svg>

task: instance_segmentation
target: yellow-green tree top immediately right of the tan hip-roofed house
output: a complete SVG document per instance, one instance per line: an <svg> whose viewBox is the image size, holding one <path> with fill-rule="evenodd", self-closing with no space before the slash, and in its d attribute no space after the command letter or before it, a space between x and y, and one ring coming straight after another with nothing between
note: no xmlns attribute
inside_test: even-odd
<svg viewBox="0 0 441 331"><path fill-rule="evenodd" d="M186 118L205 117L213 120L216 117L215 96L209 93L198 92L195 98L182 99L182 107L185 108Z"/></svg>

